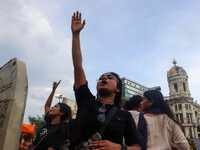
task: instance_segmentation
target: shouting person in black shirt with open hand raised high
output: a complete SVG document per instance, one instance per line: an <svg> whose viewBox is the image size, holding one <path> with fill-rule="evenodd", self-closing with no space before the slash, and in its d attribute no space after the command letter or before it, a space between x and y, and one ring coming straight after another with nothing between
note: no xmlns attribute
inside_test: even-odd
<svg viewBox="0 0 200 150"><path fill-rule="evenodd" d="M104 125L106 116L113 107L117 111L108 123L101 140L88 143L95 150L139 150L140 144L135 123L128 111L120 109L122 82L114 72L104 73L97 83L97 97L88 88L82 66L80 48L80 31L85 26L78 11L72 16L72 58L74 66L74 91L78 106L76 118L76 135L72 140L71 149L81 149L88 139ZM123 137L125 144L123 145Z"/></svg>

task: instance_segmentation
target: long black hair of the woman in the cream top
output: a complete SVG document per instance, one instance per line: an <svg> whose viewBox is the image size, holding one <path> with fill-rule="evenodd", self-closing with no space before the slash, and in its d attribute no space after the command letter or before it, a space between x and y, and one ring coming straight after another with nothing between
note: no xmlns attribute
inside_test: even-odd
<svg viewBox="0 0 200 150"><path fill-rule="evenodd" d="M157 108L165 113L169 118L171 118L174 122L179 125L173 111L169 107L169 105L164 101L164 97L159 90L149 90L144 92L144 97L147 98L148 101L153 101L151 108Z"/></svg>

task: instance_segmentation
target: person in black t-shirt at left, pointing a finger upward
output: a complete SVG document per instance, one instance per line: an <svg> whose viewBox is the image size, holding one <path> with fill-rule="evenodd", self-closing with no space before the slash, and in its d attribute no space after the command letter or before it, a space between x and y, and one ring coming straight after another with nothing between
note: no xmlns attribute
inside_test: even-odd
<svg viewBox="0 0 200 150"><path fill-rule="evenodd" d="M46 124L38 131L34 145L36 150L59 150L66 140L66 120L71 118L71 108L65 103L57 103L52 108L52 99L60 81L53 83L53 89L45 103Z"/></svg>

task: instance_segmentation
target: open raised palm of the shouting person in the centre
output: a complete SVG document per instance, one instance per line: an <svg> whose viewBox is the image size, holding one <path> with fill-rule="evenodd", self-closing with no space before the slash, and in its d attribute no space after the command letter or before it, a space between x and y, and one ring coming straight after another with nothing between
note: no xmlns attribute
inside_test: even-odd
<svg viewBox="0 0 200 150"><path fill-rule="evenodd" d="M85 20L81 21L81 13L78 11L72 16L71 30L72 33L79 33L85 26Z"/></svg>

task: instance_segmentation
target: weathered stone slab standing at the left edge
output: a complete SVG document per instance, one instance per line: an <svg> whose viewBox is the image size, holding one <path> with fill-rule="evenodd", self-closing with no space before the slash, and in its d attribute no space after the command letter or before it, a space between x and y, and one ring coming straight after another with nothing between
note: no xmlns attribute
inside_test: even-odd
<svg viewBox="0 0 200 150"><path fill-rule="evenodd" d="M0 68L0 150L17 150L24 117L28 80L17 58Z"/></svg>

